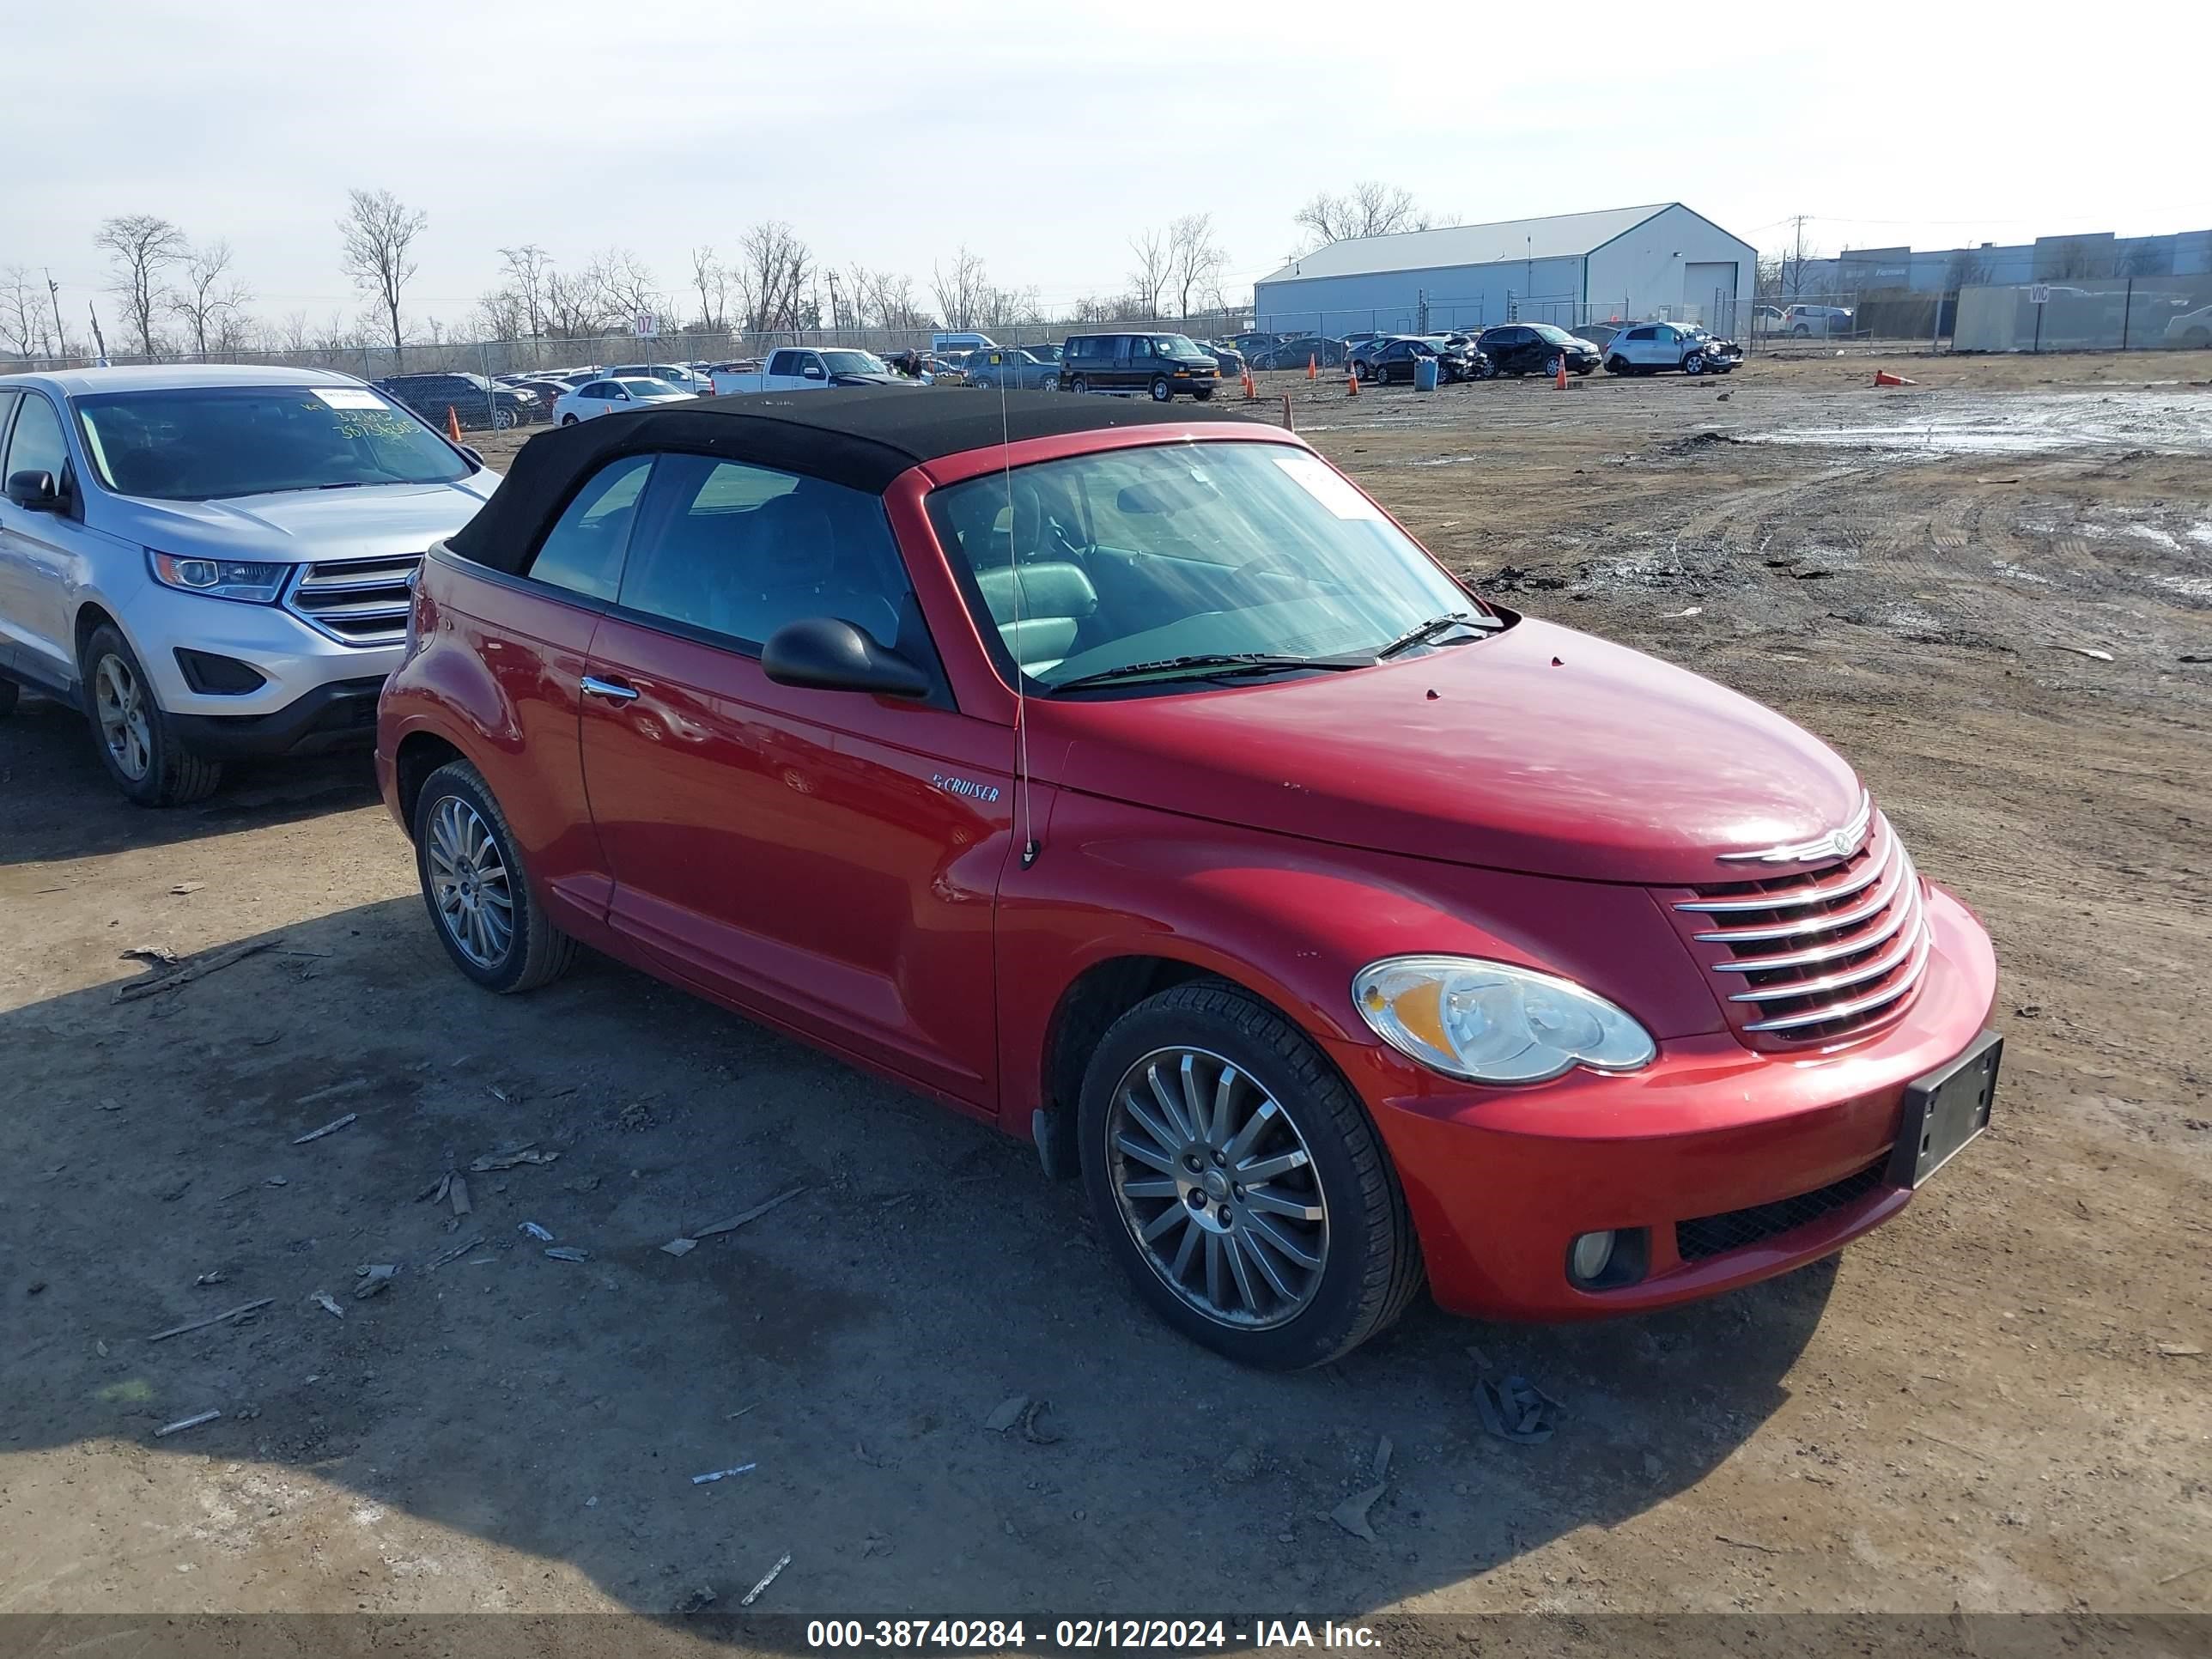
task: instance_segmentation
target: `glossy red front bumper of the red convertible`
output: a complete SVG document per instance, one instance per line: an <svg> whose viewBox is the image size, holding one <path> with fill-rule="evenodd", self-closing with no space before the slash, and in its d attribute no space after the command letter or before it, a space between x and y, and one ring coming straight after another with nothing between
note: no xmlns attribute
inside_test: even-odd
<svg viewBox="0 0 2212 1659"><path fill-rule="evenodd" d="M1670 1307L1801 1267L1911 1199L1889 1183L1905 1086L1989 1022L1997 964L1955 898L1929 889L1936 945L1911 1011L1823 1055L1761 1055L1732 1035L1672 1040L1628 1077L1568 1073L1537 1088L1467 1088L1387 1048L1338 1064L1391 1150L1436 1301L1458 1314L1571 1321ZM1712 1223L1785 1199L1801 1223L1712 1250ZM1765 1212L1772 1223L1776 1212ZM1641 1276L1579 1290L1577 1234L1644 1230ZM1745 1232L1759 1232L1747 1225Z"/></svg>

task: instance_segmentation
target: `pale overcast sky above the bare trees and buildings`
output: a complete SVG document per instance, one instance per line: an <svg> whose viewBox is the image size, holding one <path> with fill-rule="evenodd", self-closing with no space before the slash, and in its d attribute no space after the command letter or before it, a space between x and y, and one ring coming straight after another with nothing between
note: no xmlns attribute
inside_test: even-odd
<svg viewBox="0 0 2212 1659"><path fill-rule="evenodd" d="M759 219L918 296L964 241L1060 305L1210 210L1241 290L1356 179L1458 221L1679 199L1759 248L1807 212L1818 252L2194 230L2208 126L2170 73L2208 44L2203 0L2110 29L1944 0L93 0L11 31L0 268L51 265L75 330L97 223L157 212L230 239L254 312L321 323L361 307L349 186L429 212L407 310L449 321L502 243L633 248L681 294L692 246Z"/></svg>

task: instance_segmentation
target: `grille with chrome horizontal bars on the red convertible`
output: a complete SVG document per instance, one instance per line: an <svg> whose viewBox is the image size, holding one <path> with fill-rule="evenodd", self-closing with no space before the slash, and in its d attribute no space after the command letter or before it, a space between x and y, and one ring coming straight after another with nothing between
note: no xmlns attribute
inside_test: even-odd
<svg viewBox="0 0 2212 1659"><path fill-rule="evenodd" d="M1874 814L1867 845L1825 869L1694 887L1677 927L1754 1048L1834 1042L1896 1020L1927 971L1920 872Z"/></svg>

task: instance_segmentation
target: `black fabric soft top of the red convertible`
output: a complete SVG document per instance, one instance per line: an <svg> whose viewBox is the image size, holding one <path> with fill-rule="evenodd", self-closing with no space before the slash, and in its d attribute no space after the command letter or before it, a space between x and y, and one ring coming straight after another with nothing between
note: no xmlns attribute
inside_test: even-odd
<svg viewBox="0 0 2212 1659"><path fill-rule="evenodd" d="M447 546L473 564L518 571L577 484L617 456L655 449L688 449L883 493L909 467L987 449L1002 438L1022 442L1068 431L1239 418L1225 409L1006 392L1002 420L998 394L956 387L695 398L538 434L515 453L482 511Z"/></svg>

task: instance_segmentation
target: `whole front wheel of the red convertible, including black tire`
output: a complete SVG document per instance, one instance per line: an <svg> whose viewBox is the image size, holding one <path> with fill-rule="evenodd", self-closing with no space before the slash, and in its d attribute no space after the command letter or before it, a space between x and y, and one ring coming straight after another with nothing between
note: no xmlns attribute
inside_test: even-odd
<svg viewBox="0 0 2212 1659"><path fill-rule="evenodd" d="M1305 1152L1303 1164L1267 1179L1265 1210L1243 1208L1245 1190L1232 1183L1237 1166L1210 1152L1197 1159L1199 1175L1190 1181L1166 1177L1177 1181L1175 1194L1128 1190L1166 1183L1159 1139L1144 1128L1141 1115L1164 1126L1170 1139L1192 1128L1175 1119L1175 1113L1188 1117L1188 1108L1161 1110L1146 1088L1148 1071L1166 1066L1166 1077L1177 1082L1172 1095L1181 1095L1177 1062L1183 1055L1194 1066L1201 1110L1219 1108L1214 1091L1223 1066L1239 1079L1228 1113L1237 1128L1223 1126L1219 1135L1201 1130L1201 1139L1243 1139L1248 1166ZM1135 1113L1124 1104L1133 1099L1126 1093L1133 1079L1146 1088L1135 1097ZM1206 1104L1210 1093L1217 1106ZM1274 1115L1254 1133L1263 1104L1272 1104ZM1422 1285L1420 1243L1405 1192L1367 1108L1303 1031L1234 984L1190 980L1115 1020L1084 1073L1077 1135L1091 1210L1137 1294L1177 1332L1239 1365L1270 1371L1327 1365L1391 1325ZM1133 1157L1128 1146L1152 1157ZM1194 1150L1199 1141L1190 1146ZM1208 1168L1206 1159L1217 1168ZM1188 1172L1181 1159L1166 1168ZM1254 1190L1261 1190L1259 1183ZM1221 1194L1219 1210L1214 1192ZM1285 1208L1285 1201L1305 1214ZM1232 1206L1232 1219L1221 1221ZM1170 1212L1183 1217L1179 1232ZM1152 1243L1139 1241L1141 1230L1159 1234L1159 1256ZM1256 1230L1274 1241L1287 1239L1318 1265L1301 1267L1298 1256L1281 1248L1261 1254L1252 1241ZM1170 1285L1177 1261L1183 1263L1186 1290ZM1237 1272L1239 1261L1243 1274ZM1206 1303L1214 1287L1243 1314L1232 1318L1234 1310ZM1283 1287L1294 1294L1283 1296Z"/></svg>

